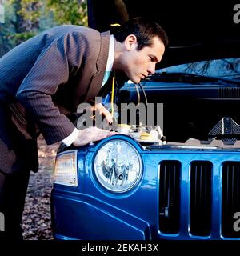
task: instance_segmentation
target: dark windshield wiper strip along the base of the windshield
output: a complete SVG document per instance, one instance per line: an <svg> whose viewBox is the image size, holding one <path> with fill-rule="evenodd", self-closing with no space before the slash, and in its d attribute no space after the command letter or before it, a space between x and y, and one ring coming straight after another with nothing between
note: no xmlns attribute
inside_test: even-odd
<svg viewBox="0 0 240 256"><path fill-rule="evenodd" d="M208 77L200 74L189 74L183 72L163 72L155 73L145 78L145 81L159 81L159 82L183 82L183 83L214 83L226 86L240 86L240 80L229 79L229 78L219 78L219 77Z"/></svg>

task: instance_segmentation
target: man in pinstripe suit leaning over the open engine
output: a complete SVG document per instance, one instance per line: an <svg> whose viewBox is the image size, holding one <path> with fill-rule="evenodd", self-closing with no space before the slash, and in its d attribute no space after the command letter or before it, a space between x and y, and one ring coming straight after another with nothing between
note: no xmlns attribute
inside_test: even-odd
<svg viewBox="0 0 240 256"><path fill-rule="evenodd" d="M22 238L30 170L38 170L37 130L49 145L82 146L113 135L97 127L78 130L66 114L98 94L106 71L123 73L134 83L154 74L167 43L157 23L135 18L113 35L57 26L0 58L0 212L7 238ZM112 122L101 104L94 110Z"/></svg>

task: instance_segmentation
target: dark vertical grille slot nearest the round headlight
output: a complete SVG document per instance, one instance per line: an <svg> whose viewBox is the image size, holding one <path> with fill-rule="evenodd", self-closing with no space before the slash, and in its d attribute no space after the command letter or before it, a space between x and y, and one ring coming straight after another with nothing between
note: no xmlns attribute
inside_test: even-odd
<svg viewBox="0 0 240 256"><path fill-rule="evenodd" d="M160 163L159 230L162 233L179 232L181 163Z"/></svg>

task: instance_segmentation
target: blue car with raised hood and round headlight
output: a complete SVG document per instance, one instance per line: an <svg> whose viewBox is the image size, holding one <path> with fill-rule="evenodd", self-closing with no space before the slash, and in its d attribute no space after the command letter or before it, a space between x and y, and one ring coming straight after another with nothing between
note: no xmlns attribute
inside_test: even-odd
<svg viewBox="0 0 240 256"><path fill-rule="evenodd" d="M88 1L89 24L103 31L124 14L150 14L165 28L170 47L156 73L139 85L123 82L114 94L119 110L130 102L152 107L146 115L154 122L146 126L137 108L134 123L120 127L127 131L60 146L54 238L240 240L238 9L199 2L196 13L195 2L122 2ZM104 104L109 99L102 94Z"/></svg>

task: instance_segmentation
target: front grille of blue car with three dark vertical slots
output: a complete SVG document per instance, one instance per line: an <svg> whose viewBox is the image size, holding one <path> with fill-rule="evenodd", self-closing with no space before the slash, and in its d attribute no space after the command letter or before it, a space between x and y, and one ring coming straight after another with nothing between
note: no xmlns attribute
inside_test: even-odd
<svg viewBox="0 0 240 256"><path fill-rule="evenodd" d="M162 236L240 239L240 161L222 162L218 172L221 162L222 155L213 161L189 158L184 163L189 169L182 169L177 160L160 162L158 230ZM186 187L182 182L187 182L188 174ZM215 182L214 175L218 175Z"/></svg>

